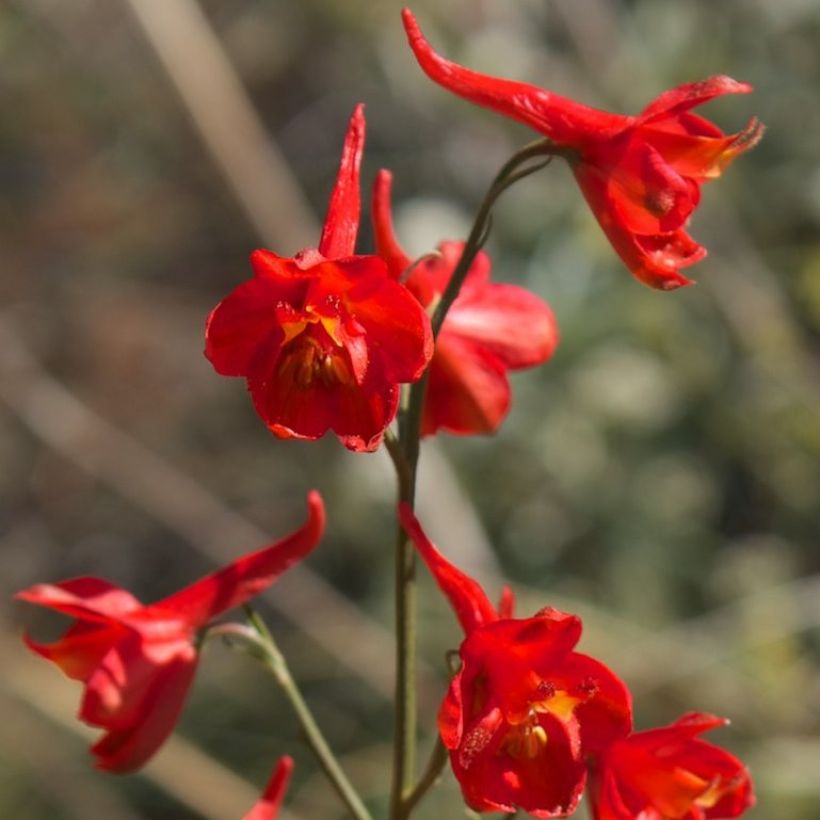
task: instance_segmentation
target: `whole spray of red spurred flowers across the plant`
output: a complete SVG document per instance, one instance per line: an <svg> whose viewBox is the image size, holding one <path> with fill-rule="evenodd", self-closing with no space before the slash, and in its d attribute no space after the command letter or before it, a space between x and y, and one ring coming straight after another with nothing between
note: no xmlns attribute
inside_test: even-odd
<svg viewBox="0 0 820 820"><path fill-rule="evenodd" d="M433 80L533 127L546 138L539 143L542 154L569 161L612 246L639 280L663 290L688 284L681 269L706 254L687 232L701 185L762 134L753 119L726 135L691 109L722 94L746 93L748 85L712 77L661 94L637 116L611 114L450 62L432 49L408 10L403 16L410 46ZM562 817L586 793L593 820L741 815L754 802L748 772L732 754L699 737L726 721L690 713L635 732L626 685L607 665L576 651L580 619L550 607L516 617L509 590L494 606L430 542L406 503L415 492L419 437L495 432L510 407L508 372L546 362L558 330L538 296L490 281L490 258L481 250L487 222L477 220L466 242L445 239L431 254L408 256L393 230L387 170L373 186L374 253L357 255L364 141L358 105L317 247L293 257L254 251L253 278L208 317L206 356L218 373L247 380L256 411L279 438L315 440L332 431L347 448L369 452L403 413L399 435L387 441L405 502L399 520L464 631L460 667L438 727L472 809ZM482 218L498 192L531 170L516 166L522 157L530 155L517 154L496 178ZM408 399L403 403L402 391ZM415 427L403 423L411 409L400 411L400 403L415 412ZM214 619L305 558L323 529L323 503L312 492L301 529L149 605L90 577L18 593L74 619L53 643L24 639L83 683L79 716L103 730L91 748L99 768L132 771L159 749L183 708ZM409 541L400 538L399 569L412 566L413 558ZM263 633L259 628L254 634ZM397 643L406 649L411 641L407 633L403 638ZM272 639L267 647L270 660ZM399 708L411 701L405 698ZM306 707L299 704L295 711L310 737ZM329 754L323 742L316 749L353 814L368 817L335 763L323 757ZM292 769L289 757L278 761L245 820L274 820ZM395 778L399 769L401 764L394 770L399 810L393 816L405 817L407 789Z"/></svg>

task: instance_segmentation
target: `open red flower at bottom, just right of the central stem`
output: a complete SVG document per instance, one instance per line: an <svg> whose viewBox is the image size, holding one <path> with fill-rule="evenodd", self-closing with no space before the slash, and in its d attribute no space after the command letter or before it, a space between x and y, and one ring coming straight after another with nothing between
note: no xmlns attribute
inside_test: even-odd
<svg viewBox="0 0 820 820"><path fill-rule="evenodd" d="M409 507L400 517L466 635L438 721L464 799L477 811L572 813L585 755L630 731L629 692L602 663L573 651L578 618L551 608L513 618L508 592L497 611L427 539Z"/></svg>

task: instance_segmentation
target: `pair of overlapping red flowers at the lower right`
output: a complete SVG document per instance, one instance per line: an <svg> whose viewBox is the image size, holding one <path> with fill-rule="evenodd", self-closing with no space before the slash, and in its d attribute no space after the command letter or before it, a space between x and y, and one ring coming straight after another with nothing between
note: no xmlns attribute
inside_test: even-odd
<svg viewBox="0 0 820 820"><path fill-rule="evenodd" d="M743 764L696 739L725 720L693 713L633 733L626 686L575 651L576 616L547 607L516 618L509 590L496 609L408 506L399 516L465 634L438 724L471 808L563 817L587 785L594 820L731 818L753 805Z"/></svg>

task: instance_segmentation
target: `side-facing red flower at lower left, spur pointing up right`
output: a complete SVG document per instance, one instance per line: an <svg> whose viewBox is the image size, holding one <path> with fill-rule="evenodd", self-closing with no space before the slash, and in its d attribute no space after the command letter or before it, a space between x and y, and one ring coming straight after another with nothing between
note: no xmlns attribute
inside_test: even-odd
<svg viewBox="0 0 820 820"><path fill-rule="evenodd" d="M133 771L159 749L196 671L197 631L258 595L316 546L325 521L317 492L308 495L308 510L307 523L292 535L148 606L101 578L38 584L17 593L76 619L54 643L23 637L85 684L79 717L106 730L91 747L98 768Z"/></svg>

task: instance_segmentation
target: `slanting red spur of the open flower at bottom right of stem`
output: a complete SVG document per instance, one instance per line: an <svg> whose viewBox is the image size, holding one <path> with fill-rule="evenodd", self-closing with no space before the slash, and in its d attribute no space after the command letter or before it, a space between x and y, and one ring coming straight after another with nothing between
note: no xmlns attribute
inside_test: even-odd
<svg viewBox="0 0 820 820"><path fill-rule="evenodd" d="M441 591L447 596L465 634L495 621L493 605L477 581L451 564L425 535L409 505L399 504L399 520L427 564Z"/></svg>

